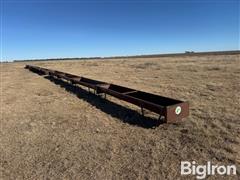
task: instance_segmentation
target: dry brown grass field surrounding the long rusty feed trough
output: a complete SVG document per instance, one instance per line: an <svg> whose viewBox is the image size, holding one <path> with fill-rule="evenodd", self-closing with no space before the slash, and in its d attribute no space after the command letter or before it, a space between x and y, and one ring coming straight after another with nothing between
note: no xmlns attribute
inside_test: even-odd
<svg viewBox="0 0 240 180"><path fill-rule="evenodd" d="M160 124L27 63L189 101L190 116ZM0 179L195 179L180 175L193 160L239 174L239 79L239 55L1 64Z"/></svg>

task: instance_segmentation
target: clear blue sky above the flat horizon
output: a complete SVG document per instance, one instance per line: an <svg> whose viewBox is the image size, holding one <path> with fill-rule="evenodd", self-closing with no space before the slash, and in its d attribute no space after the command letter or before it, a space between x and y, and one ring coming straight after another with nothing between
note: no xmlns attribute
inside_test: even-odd
<svg viewBox="0 0 240 180"><path fill-rule="evenodd" d="M2 59L239 49L239 1L1 1Z"/></svg>

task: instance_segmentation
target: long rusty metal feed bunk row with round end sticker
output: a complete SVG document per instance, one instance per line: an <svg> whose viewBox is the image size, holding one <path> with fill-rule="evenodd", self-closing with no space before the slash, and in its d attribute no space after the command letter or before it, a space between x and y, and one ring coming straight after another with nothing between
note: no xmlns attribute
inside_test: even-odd
<svg viewBox="0 0 240 180"><path fill-rule="evenodd" d="M118 99L127 101L159 114L159 117L164 117L166 122L176 122L189 115L188 102L151 94L128 87L123 87L115 84L110 84L103 81L93 80L73 74L41 68L38 66L26 65L26 69L40 75L49 75L55 78L64 79L72 84L79 84L88 88L94 89L97 94L104 93L114 96Z"/></svg>

